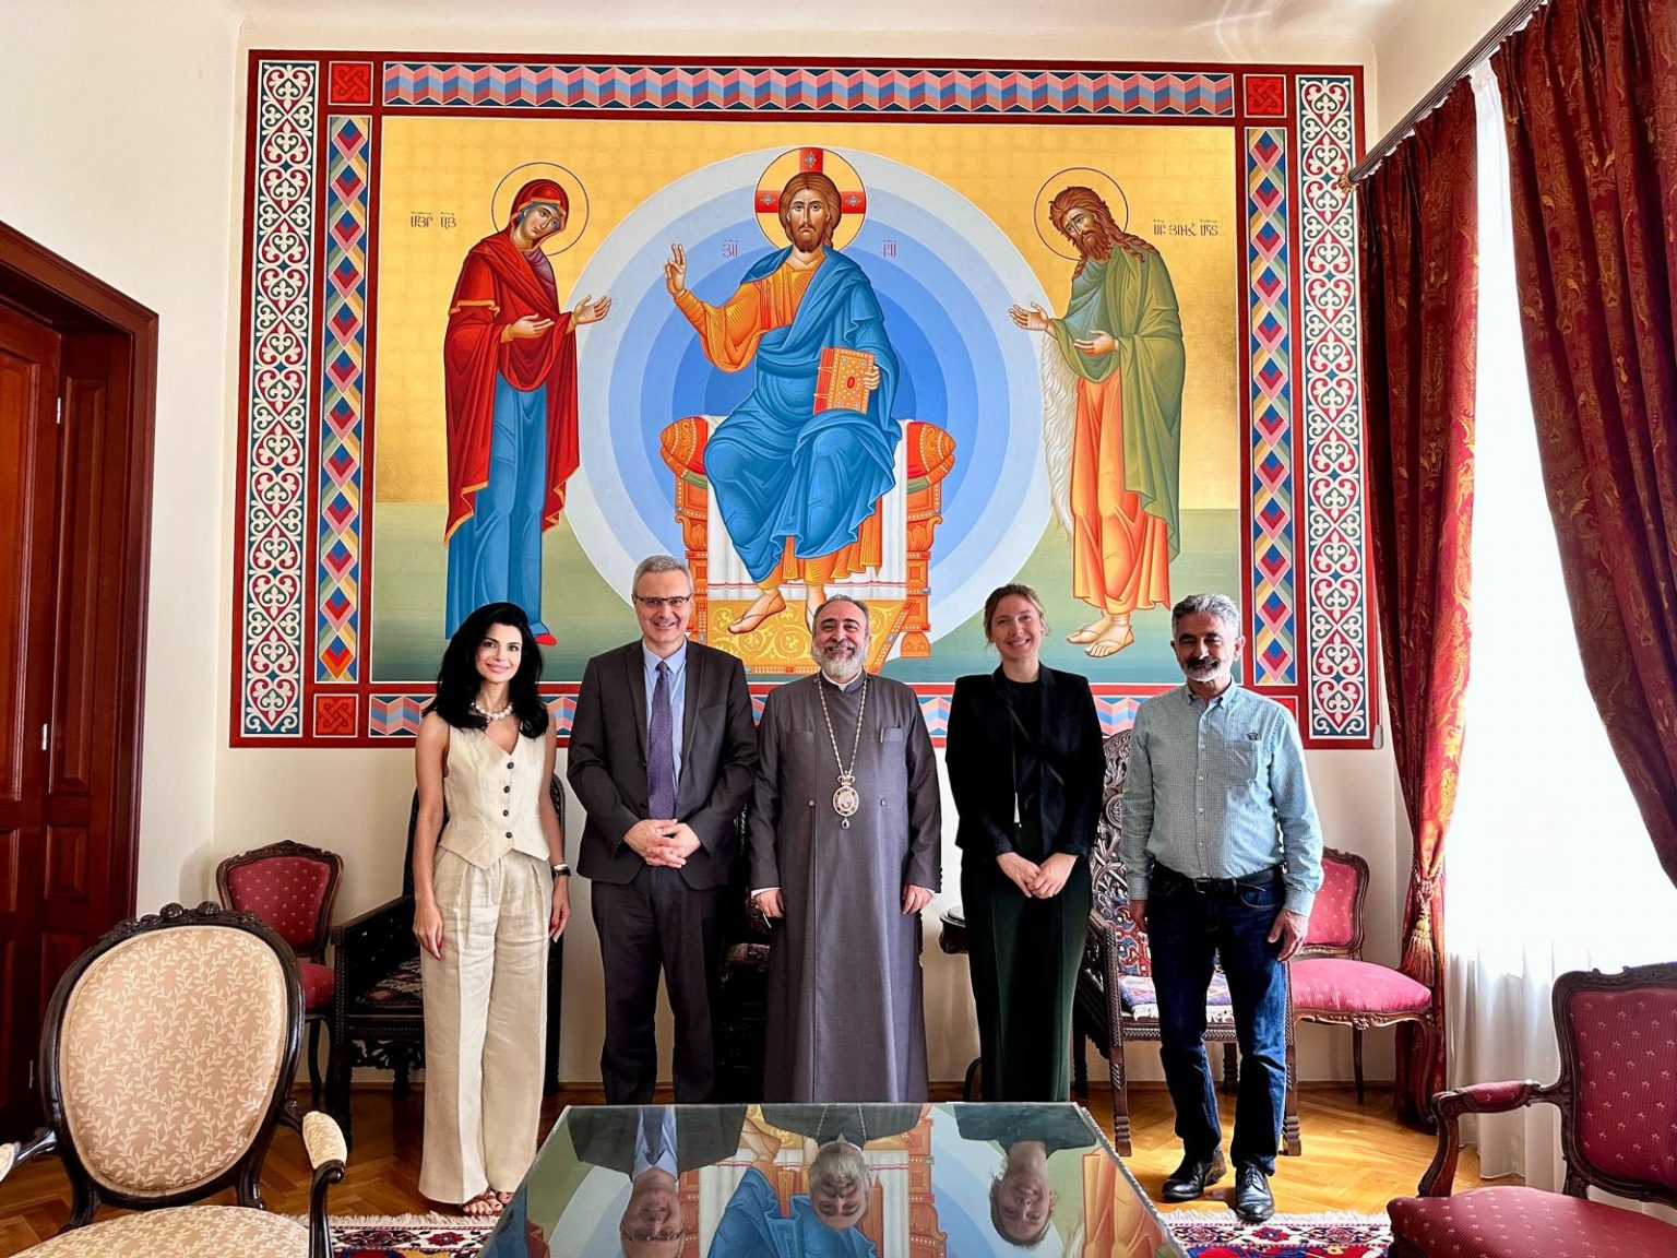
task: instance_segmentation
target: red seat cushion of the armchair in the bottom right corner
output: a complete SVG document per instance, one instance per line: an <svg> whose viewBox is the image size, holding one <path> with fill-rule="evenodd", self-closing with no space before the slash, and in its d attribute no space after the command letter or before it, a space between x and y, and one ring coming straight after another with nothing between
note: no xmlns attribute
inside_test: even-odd
<svg viewBox="0 0 1677 1258"><path fill-rule="evenodd" d="M1437 1258L1670 1258L1677 1228L1650 1214L1539 1188L1399 1198L1392 1229Z"/></svg>

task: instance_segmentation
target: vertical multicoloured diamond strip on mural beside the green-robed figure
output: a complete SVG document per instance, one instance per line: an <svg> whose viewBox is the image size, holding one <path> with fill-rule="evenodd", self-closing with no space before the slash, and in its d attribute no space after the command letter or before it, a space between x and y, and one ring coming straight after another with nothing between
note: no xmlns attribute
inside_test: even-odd
<svg viewBox="0 0 1677 1258"><path fill-rule="evenodd" d="M1293 310L1286 127L1246 127L1246 294L1251 329L1253 679L1298 681L1293 585Z"/></svg>

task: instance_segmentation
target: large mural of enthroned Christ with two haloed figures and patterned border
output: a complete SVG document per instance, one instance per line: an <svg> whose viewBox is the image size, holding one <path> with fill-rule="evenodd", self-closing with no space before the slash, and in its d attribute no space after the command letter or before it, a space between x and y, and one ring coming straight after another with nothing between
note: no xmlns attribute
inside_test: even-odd
<svg viewBox="0 0 1677 1258"><path fill-rule="evenodd" d="M1233 594L1246 683L1367 746L1355 69L250 54L233 741L411 738L508 599L560 736L634 565L756 691L988 671L989 589L1107 728Z"/></svg>

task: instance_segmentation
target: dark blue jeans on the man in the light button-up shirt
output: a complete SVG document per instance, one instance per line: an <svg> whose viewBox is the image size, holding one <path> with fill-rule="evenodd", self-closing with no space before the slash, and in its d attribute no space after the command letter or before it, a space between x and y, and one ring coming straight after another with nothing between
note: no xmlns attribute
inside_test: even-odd
<svg viewBox="0 0 1677 1258"><path fill-rule="evenodd" d="M1276 959L1281 944L1268 939L1285 894L1280 867L1207 886L1154 866L1147 899L1159 1060L1176 1105L1176 1134L1196 1159L1209 1159L1223 1142L1204 1042L1206 990L1221 956L1241 1048L1229 1156L1266 1174L1275 1172L1286 1105L1286 969Z"/></svg>

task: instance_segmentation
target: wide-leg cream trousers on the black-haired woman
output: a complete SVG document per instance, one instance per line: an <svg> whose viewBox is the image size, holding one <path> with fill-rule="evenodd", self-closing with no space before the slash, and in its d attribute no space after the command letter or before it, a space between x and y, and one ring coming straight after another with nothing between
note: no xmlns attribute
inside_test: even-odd
<svg viewBox="0 0 1677 1258"><path fill-rule="evenodd" d="M424 983L424 1156L419 1191L463 1203L511 1193L535 1157L547 1027L553 876L508 852L478 869L438 849L443 956L419 951Z"/></svg>

